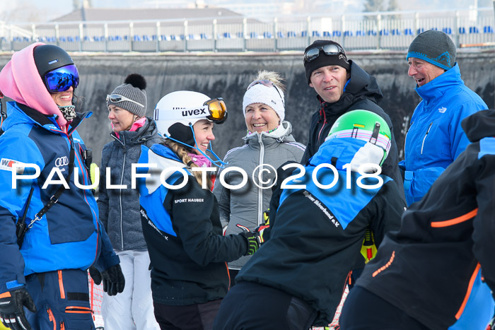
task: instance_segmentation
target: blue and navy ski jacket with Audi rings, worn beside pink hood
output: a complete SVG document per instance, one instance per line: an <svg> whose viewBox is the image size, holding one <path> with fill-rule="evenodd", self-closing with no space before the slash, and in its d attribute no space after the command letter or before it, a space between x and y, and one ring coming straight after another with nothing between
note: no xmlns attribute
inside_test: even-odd
<svg viewBox="0 0 495 330"><path fill-rule="evenodd" d="M60 129L54 115L16 102L8 102L8 118L0 136L0 293L25 284L30 273L61 269L88 269L95 261L105 270L119 263L110 240L98 222L98 206L84 165L86 146L76 127L91 113L78 114L67 131ZM69 172L70 143L74 141L74 172ZM13 164L17 175L13 188ZM35 173L35 166L40 172ZM20 168L19 168L20 166ZM28 175L31 175L28 177ZM62 177L64 177L62 179ZM16 239L16 222L22 218L28 195L33 195L25 221L35 218L50 197L66 182L67 187L50 210L33 223L21 249ZM46 189L44 184L47 184Z"/></svg>

